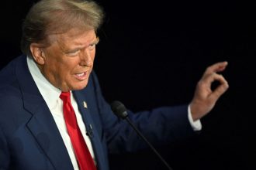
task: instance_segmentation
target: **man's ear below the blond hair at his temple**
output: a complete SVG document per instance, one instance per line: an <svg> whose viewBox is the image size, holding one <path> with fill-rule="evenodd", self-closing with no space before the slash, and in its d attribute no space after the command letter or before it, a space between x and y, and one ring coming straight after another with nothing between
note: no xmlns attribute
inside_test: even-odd
<svg viewBox="0 0 256 170"><path fill-rule="evenodd" d="M33 59L37 64L43 65L45 63L45 55L39 43L31 43L30 52L32 53Z"/></svg>

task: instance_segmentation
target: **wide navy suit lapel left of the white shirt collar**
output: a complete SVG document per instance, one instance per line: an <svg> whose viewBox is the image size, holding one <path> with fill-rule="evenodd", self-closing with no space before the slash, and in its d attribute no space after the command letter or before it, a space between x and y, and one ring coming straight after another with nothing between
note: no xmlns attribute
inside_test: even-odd
<svg viewBox="0 0 256 170"><path fill-rule="evenodd" d="M21 60L22 62L17 63L16 68L19 71L16 71L16 75L22 92L24 108L31 114L27 128L54 168L72 169L71 160L54 117L50 114L47 104L29 73L26 57L21 57Z"/></svg>

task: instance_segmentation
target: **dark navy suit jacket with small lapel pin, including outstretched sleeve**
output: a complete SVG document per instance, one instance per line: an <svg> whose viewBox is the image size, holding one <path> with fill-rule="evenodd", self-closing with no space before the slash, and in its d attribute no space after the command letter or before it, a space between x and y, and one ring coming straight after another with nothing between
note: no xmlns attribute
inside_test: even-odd
<svg viewBox="0 0 256 170"><path fill-rule="evenodd" d="M98 169L109 169L109 153L147 147L126 121L112 114L95 73L84 90L74 91L74 97ZM187 107L161 107L140 114L129 111L129 116L153 145L160 145L193 133ZM54 118L29 73L26 56L17 57L0 72L0 169L73 169Z"/></svg>

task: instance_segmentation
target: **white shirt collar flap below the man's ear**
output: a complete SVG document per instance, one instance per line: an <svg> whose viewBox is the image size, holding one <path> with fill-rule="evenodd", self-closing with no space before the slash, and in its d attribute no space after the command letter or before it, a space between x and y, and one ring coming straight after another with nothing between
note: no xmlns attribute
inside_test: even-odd
<svg viewBox="0 0 256 170"><path fill-rule="evenodd" d="M33 76L33 80L36 83L38 90L40 90L43 99L47 102L47 106L50 110L57 106L57 102L60 100L61 90L54 87L40 72L38 66L31 57L27 56L26 61L29 67L29 72ZM49 95L50 94L50 95Z"/></svg>

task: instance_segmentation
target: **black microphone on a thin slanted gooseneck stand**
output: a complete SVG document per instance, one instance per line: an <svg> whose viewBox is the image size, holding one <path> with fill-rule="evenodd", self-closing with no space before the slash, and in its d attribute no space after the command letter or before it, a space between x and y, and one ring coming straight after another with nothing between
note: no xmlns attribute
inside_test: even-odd
<svg viewBox="0 0 256 170"><path fill-rule="evenodd" d="M164 158L161 157L161 155L157 152L157 150L153 147L153 145L151 145L150 142L147 141L147 138L145 138L144 135L141 134L141 132L132 123L132 121L130 121L130 118L128 117L128 113L127 113L127 110L126 110L126 107L118 100L113 101L110 106L111 106L112 112L114 114L116 114L117 117L119 117L121 119L125 119L132 126L132 128L137 132L137 134L140 136L140 138L142 138L147 143L147 145L152 149L152 151L154 151L154 153L157 155L157 157L160 158L161 162L163 162L164 165L169 170L172 170L170 165L168 165L168 163L164 160Z"/></svg>

